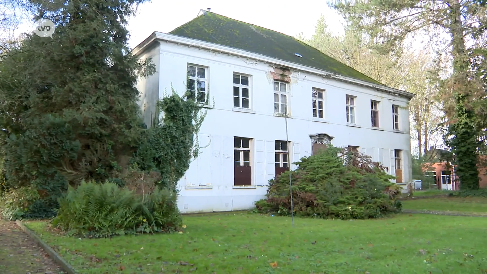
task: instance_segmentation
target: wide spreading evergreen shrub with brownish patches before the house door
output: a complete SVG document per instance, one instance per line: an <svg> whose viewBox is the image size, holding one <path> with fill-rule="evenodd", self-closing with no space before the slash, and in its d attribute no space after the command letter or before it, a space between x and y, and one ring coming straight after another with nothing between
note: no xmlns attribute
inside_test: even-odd
<svg viewBox="0 0 487 274"><path fill-rule="evenodd" d="M366 219L397 213L400 188L369 156L329 147L303 157L291 171L294 214L318 218ZM289 171L269 181L261 213L291 214Z"/></svg>

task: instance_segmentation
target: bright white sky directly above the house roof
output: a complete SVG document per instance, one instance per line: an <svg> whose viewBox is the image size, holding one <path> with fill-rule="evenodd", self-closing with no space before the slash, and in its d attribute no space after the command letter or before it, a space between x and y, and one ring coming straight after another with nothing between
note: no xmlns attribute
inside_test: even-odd
<svg viewBox="0 0 487 274"><path fill-rule="evenodd" d="M152 0L139 6L138 14L129 20L130 47L150 36L154 31L168 33L192 20L200 9L211 8L211 12L252 23L290 36L303 33L306 37L315 31L315 25L322 15L327 18L330 29L343 31L341 16L331 10L325 0L262 1L247 0Z"/></svg>

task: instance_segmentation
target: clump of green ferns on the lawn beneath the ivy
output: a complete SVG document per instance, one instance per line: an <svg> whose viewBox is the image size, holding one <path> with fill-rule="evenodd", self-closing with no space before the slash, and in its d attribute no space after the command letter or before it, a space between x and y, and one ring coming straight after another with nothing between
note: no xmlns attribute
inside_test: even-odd
<svg viewBox="0 0 487 274"><path fill-rule="evenodd" d="M176 195L154 187L138 194L117 184L82 182L59 198L53 226L69 235L107 237L135 233L176 231L181 217Z"/></svg>

